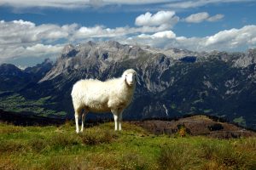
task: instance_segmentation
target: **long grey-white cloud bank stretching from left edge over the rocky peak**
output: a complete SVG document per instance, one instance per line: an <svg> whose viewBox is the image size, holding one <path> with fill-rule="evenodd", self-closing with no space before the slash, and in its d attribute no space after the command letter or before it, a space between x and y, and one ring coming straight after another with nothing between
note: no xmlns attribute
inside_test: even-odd
<svg viewBox="0 0 256 170"><path fill-rule="evenodd" d="M166 31L169 26L85 27L77 24L58 26L54 24L36 25L30 21L0 21L0 61L27 56L40 57L57 54L61 43L84 42L91 38L125 38L131 34ZM173 33L173 32L172 32ZM172 37L171 32L155 34L154 37Z"/></svg>

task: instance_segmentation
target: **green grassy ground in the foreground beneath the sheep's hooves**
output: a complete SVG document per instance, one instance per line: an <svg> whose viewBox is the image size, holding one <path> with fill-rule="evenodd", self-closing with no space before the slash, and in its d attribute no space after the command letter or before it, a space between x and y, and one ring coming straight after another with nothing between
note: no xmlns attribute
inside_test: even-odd
<svg viewBox="0 0 256 170"><path fill-rule="evenodd" d="M113 122L75 133L0 123L0 169L256 169L256 139L156 136Z"/></svg>

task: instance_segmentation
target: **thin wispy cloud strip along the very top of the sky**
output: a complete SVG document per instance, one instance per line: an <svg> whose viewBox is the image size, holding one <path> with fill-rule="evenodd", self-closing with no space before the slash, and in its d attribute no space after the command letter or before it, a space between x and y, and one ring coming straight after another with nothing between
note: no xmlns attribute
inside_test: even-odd
<svg viewBox="0 0 256 170"><path fill-rule="evenodd" d="M154 4L152 8L167 8L167 9L183 9L183 8L197 8L208 4L219 3L247 3L255 0L1 0L0 6L10 6L14 8L99 8L103 6L113 5L148 5ZM142 8L141 8L142 9Z"/></svg>

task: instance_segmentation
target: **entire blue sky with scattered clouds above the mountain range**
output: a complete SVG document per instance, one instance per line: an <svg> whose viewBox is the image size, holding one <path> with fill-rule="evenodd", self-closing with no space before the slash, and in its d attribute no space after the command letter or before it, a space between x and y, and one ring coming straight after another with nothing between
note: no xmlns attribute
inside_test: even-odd
<svg viewBox="0 0 256 170"><path fill-rule="evenodd" d="M55 59L68 43L256 48L255 0L0 0L0 64Z"/></svg>

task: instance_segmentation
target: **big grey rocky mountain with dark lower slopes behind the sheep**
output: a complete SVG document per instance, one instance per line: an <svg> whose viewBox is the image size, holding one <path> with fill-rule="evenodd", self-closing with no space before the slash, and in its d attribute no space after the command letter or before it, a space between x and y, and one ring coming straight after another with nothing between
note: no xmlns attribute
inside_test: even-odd
<svg viewBox="0 0 256 170"><path fill-rule="evenodd" d="M141 86L137 85L125 119L200 113L256 128L255 57L256 49L246 53L197 53L113 41L70 44L50 70L37 83L20 89L19 95L33 100L47 97L47 108L66 111L66 116L72 117L70 93L74 82L82 78L104 81L134 68Z"/></svg>

